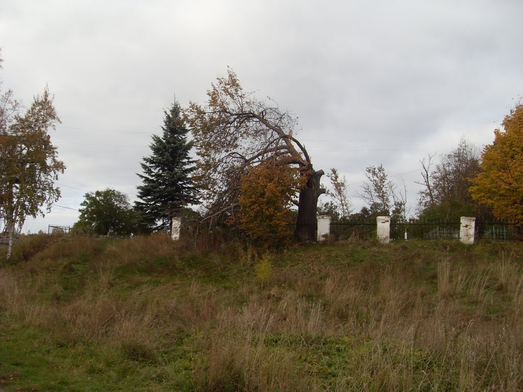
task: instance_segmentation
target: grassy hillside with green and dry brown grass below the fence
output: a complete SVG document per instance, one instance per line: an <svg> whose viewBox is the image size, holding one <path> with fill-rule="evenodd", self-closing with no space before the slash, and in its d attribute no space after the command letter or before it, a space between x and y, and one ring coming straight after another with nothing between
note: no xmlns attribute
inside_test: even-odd
<svg viewBox="0 0 523 392"><path fill-rule="evenodd" d="M0 261L0 389L522 390L521 257L30 236Z"/></svg>

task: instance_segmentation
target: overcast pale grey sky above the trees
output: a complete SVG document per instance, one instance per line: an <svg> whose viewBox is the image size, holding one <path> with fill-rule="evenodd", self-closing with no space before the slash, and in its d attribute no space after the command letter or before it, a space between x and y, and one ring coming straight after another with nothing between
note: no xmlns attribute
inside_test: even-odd
<svg viewBox="0 0 523 392"><path fill-rule="evenodd" d="M315 169L345 175L357 210L379 164L415 204L419 160L462 135L492 143L523 94L522 15L521 0L0 0L0 77L26 107L46 84L55 96L63 207L107 187L134 200L163 109L203 102L227 66L300 118ZM54 206L24 232L77 216Z"/></svg>

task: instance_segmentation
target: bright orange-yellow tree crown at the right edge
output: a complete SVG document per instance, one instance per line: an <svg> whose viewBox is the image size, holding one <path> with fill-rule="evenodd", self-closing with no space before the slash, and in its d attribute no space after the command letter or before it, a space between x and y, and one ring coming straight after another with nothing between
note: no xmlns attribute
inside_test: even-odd
<svg viewBox="0 0 523 392"><path fill-rule="evenodd" d="M504 131L494 131L494 143L485 146L481 172L471 180L470 193L491 206L498 218L523 225L523 105L505 117Z"/></svg>

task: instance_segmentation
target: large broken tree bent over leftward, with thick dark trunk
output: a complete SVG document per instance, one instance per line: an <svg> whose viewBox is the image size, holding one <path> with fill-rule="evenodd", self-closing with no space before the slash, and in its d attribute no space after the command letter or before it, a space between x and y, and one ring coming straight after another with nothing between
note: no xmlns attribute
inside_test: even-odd
<svg viewBox="0 0 523 392"><path fill-rule="evenodd" d="M240 205L242 175L268 159L277 158L297 168L304 184L300 188L297 224L298 240L313 240L316 206L323 170L314 170L305 147L294 137L297 118L281 111L270 99L258 100L243 90L236 74L219 77L207 91L202 106L190 102L185 111L199 160L193 177L202 190L206 218L234 214ZM276 168L278 166L275 166Z"/></svg>

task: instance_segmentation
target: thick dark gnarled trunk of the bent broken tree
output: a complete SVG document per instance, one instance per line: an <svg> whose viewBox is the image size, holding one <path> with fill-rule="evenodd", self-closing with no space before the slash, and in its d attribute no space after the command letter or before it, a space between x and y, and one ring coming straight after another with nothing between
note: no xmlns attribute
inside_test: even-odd
<svg viewBox="0 0 523 392"><path fill-rule="evenodd" d="M300 192L298 219L294 230L294 238L298 241L316 240L316 210L318 198L325 193L325 189L320 188L320 178L324 174L323 170L311 169L309 180Z"/></svg>

